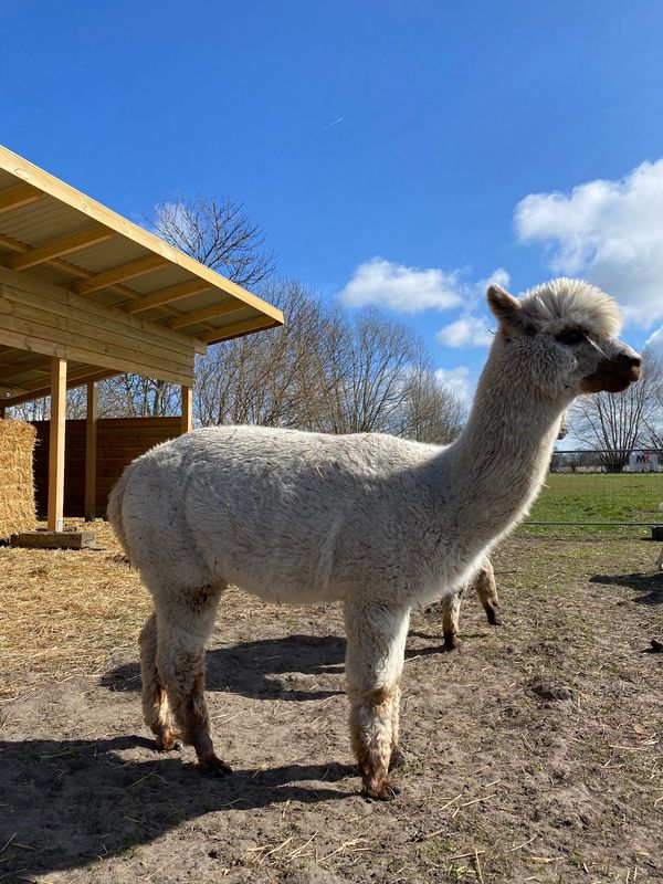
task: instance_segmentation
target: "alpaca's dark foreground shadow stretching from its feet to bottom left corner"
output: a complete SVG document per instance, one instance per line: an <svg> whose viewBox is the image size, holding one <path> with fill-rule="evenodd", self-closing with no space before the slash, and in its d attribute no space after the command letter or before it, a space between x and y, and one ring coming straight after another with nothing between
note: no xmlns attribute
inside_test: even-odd
<svg viewBox="0 0 663 884"><path fill-rule="evenodd" d="M288 765L217 779L149 746L141 737L0 740L0 877L28 881L108 855L130 857L137 846L211 812L317 804L358 791L352 779L329 788L354 778L354 766Z"/></svg>

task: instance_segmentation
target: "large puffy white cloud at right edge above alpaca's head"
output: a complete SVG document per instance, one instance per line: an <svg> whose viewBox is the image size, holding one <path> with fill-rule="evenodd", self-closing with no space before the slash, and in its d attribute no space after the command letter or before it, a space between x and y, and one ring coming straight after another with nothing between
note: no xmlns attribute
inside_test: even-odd
<svg viewBox="0 0 663 884"><path fill-rule="evenodd" d="M570 193L530 193L515 224L520 242L547 248L554 273L587 276L642 326L663 317L663 159Z"/></svg>

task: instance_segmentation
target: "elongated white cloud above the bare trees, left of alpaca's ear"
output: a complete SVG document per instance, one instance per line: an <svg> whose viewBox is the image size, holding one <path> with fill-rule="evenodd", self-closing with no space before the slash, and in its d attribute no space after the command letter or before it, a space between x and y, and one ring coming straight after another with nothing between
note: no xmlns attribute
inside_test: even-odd
<svg viewBox="0 0 663 884"><path fill-rule="evenodd" d="M377 304L399 313L421 313L429 307L445 311L463 301L460 276L459 271L419 270L372 257L357 267L340 297L351 307Z"/></svg>

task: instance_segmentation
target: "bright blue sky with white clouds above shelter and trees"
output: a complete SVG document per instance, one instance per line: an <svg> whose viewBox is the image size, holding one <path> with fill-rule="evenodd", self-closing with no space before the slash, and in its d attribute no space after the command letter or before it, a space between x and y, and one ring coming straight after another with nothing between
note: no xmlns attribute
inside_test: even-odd
<svg viewBox="0 0 663 884"><path fill-rule="evenodd" d="M0 141L139 222L243 201L462 392L494 274L587 276L663 352L662 34L649 0L3 0Z"/></svg>

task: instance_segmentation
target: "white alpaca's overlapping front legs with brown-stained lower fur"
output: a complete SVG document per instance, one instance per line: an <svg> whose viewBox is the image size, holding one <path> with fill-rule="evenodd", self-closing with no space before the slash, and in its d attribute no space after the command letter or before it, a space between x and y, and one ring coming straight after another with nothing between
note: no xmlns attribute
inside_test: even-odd
<svg viewBox="0 0 663 884"><path fill-rule="evenodd" d="M352 750L362 793L382 800L392 799L399 791L388 774L394 750L398 755L393 706L399 697L409 618L407 608L357 602L345 606Z"/></svg>

